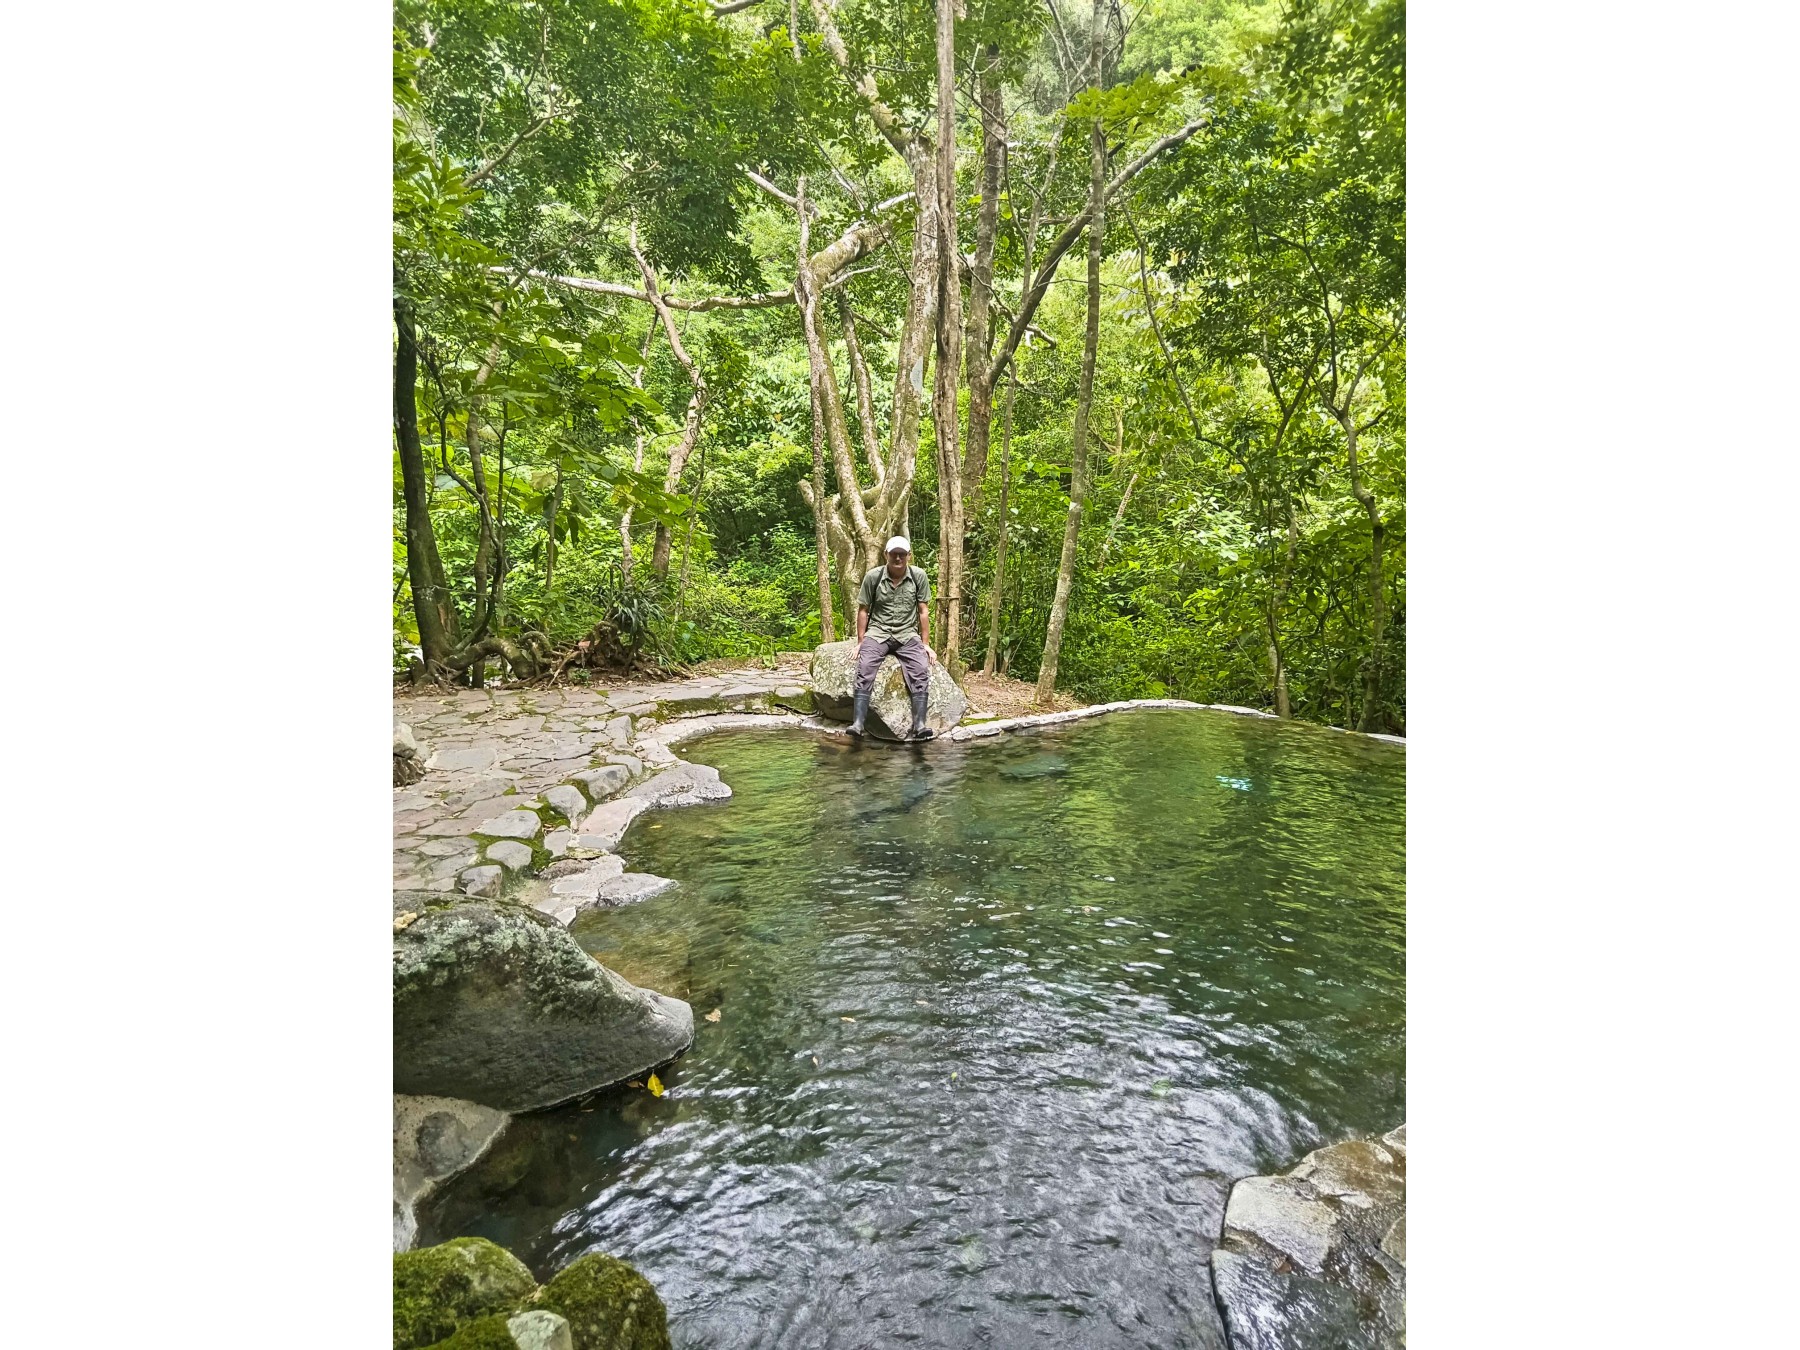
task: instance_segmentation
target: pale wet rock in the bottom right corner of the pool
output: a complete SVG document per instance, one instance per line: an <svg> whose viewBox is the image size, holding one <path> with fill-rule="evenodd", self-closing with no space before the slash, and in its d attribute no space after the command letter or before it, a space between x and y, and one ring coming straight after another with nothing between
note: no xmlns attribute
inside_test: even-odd
<svg viewBox="0 0 1800 1350"><path fill-rule="evenodd" d="M1406 1127L1238 1181L1211 1264L1233 1350L1400 1350Z"/></svg>

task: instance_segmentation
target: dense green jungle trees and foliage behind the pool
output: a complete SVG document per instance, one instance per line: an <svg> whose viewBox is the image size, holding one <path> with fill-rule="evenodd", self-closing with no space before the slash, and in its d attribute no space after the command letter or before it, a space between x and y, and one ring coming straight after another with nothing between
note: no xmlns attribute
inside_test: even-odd
<svg viewBox="0 0 1800 1350"><path fill-rule="evenodd" d="M1404 0L400 0L394 655L1404 731ZM580 666L571 662L578 639Z"/></svg>

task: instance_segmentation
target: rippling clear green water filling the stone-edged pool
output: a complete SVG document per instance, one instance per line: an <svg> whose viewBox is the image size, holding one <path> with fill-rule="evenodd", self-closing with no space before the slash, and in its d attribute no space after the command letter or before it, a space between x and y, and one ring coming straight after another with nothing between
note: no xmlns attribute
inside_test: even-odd
<svg viewBox="0 0 1800 1350"><path fill-rule="evenodd" d="M695 1048L518 1121L421 1242L625 1256L686 1348L1215 1346L1231 1181L1404 1120L1404 749L1134 711L684 756L736 796L621 848L680 889L574 931Z"/></svg>

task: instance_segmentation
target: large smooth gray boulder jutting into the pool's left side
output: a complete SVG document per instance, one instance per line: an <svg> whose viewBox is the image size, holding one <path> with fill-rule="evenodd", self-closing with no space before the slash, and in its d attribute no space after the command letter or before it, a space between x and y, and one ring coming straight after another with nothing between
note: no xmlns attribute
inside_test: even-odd
<svg viewBox="0 0 1800 1350"><path fill-rule="evenodd" d="M693 1044L693 1008L607 970L554 918L475 900L394 932L394 1091L538 1111Z"/></svg>

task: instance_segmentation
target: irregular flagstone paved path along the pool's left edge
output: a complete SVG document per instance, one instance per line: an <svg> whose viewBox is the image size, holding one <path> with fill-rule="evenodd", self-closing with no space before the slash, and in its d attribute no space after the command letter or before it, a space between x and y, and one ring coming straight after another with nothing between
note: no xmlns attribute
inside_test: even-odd
<svg viewBox="0 0 1800 1350"><path fill-rule="evenodd" d="M806 713L806 657L724 675L619 688L500 688L396 695L425 778L394 788L396 913L407 891L526 898L569 922L661 886L623 871L612 848L641 810L731 796L716 770L684 765L655 729L715 713Z"/></svg>

